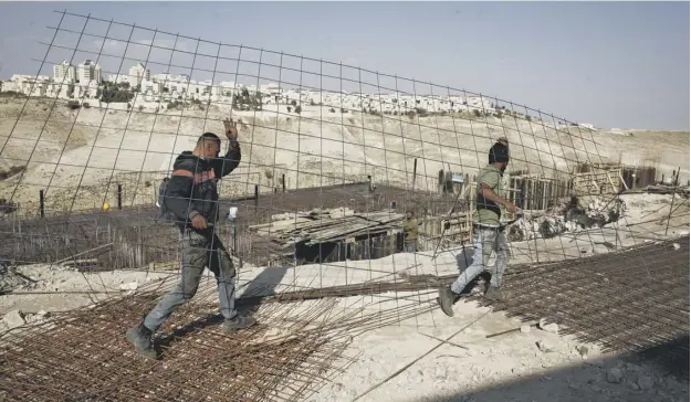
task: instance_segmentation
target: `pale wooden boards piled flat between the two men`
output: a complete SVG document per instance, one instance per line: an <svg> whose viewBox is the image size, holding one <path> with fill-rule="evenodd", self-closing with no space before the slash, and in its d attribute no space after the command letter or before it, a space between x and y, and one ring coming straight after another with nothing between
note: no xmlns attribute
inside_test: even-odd
<svg viewBox="0 0 691 402"><path fill-rule="evenodd" d="M272 215L271 223L250 226L256 235L271 237L283 247L296 243L315 245L354 241L360 236L392 234L401 230L404 215L391 210L355 213L347 208Z"/></svg>

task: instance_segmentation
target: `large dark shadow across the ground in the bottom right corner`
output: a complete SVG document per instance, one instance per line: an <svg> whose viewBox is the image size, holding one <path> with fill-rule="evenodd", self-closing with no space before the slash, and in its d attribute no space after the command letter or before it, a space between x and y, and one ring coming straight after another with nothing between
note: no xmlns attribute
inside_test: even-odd
<svg viewBox="0 0 691 402"><path fill-rule="evenodd" d="M689 401L689 337L642 353L575 367L456 394L410 402L681 402ZM680 353L685 346L687 353ZM685 374L684 374L685 373Z"/></svg>

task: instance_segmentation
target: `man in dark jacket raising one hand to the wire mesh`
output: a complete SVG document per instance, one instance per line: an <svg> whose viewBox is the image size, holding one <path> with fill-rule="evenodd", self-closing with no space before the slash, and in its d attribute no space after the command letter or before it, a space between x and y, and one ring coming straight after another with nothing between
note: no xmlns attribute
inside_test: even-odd
<svg viewBox="0 0 691 402"><path fill-rule="evenodd" d="M156 358L151 336L172 311L195 296L207 266L216 275L223 330L237 331L256 324L254 318L240 316L235 310L235 268L213 230L220 215L217 181L233 171L241 157L237 124L232 120L223 124L230 141L226 156L219 158L220 138L205 133L193 151L178 156L166 186L161 208L164 215L172 219L180 230L181 277L142 322L127 330L127 339L146 358Z"/></svg>

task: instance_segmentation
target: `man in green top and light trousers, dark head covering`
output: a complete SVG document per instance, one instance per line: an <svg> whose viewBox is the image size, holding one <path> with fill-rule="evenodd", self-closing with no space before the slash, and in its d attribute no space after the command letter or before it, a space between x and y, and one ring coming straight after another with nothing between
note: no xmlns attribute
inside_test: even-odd
<svg viewBox="0 0 691 402"><path fill-rule="evenodd" d="M501 205L507 212L515 213L517 208L501 195L502 176L509 165L509 142L505 138L500 138L489 154L489 165L482 168L478 174L477 213L473 223L473 262L451 286L442 286L439 289L439 304L441 310L452 317L453 304L460 298L465 286L480 275L486 267L492 255L496 253L496 262L490 279L490 286L485 292L485 297L490 299L501 299L502 275L509 263L510 252L506 243L505 226L500 222Z"/></svg>

